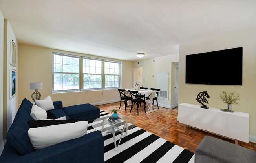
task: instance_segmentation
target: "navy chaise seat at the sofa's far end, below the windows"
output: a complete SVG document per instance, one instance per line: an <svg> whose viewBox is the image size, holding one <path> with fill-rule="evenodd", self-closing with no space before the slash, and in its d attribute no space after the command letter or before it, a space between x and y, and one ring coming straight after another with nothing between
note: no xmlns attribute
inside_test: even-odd
<svg viewBox="0 0 256 163"><path fill-rule="evenodd" d="M89 104L89 103L64 107L63 110L72 119L80 119L80 117L83 117L83 116L90 116L92 114L96 114L96 115L100 114L100 109L98 107L95 107L95 106Z"/></svg>

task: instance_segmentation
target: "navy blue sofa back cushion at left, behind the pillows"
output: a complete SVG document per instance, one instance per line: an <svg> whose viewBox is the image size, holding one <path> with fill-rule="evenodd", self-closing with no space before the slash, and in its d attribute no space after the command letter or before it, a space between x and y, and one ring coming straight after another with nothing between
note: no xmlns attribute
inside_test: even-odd
<svg viewBox="0 0 256 163"><path fill-rule="evenodd" d="M7 142L21 155L34 151L27 133L29 130L27 121L34 120L29 115L32 105L27 99L22 101L13 123L6 134Z"/></svg>

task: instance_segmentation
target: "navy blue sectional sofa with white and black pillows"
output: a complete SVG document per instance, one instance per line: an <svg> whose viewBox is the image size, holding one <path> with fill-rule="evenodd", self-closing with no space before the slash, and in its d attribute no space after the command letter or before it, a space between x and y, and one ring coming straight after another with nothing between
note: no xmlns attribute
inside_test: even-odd
<svg viewBox="0 0 256 163"><path fill-rule="evenodd" d="M45 149L35 150L28 136L27 121L32 103L24 99L13 124L6 134L5 144L0 163L102 163L104 162L104 138L95 131L80 138L65 141ZM81 121L99 118L99 108L90 105L75 105L62 108L62 102L53 102L55 109L50 110L57 118ZM60 133L61 134L61 133Z"/></svg>

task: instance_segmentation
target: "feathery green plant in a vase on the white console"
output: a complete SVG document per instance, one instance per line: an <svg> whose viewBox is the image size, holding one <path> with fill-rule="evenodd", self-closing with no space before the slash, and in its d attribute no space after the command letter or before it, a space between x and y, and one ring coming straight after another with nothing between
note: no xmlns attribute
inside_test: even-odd
<svg viewBox="0 0 256 163"><path fill-rule="evenodd" d="M240 100L240 95L236 92L227 93L225 91L222 91L219 97L221 101L227 104L227 109L221 109L221 111L234 112L232 111L232 104L238 104L238 101Z"/></svg>

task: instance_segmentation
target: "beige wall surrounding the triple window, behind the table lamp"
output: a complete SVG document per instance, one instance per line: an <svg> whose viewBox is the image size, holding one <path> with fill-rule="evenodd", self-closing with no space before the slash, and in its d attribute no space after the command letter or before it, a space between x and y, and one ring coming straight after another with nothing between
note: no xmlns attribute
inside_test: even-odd
<svg viewBox="0 0 256 163"><path fill-rule="evenodd" d="M82 103L104 103L119 100L119 93L116 89L99 90L99 91L82 91L82 92L66 92L52 93L52 52L74 54L80 56L89 56L94 58L102 58L90 56L86 54L72 53L68 51L60 51L45 47L37 47L31 45L19 45L19 104L24 98L31 101L33 90L29 90L30 82L42 82L43 89L38 90L41 98L44 99L50 95L53 101L62 101L64 106L77 105ZM104 59L104 58L103 58ZM106 58L110 59L110 58ZM114 60L114 59L111 59ZM130 61L122 61L122 80L123 88L132 87L132 69L133 64ZM103 94L102 94L103 93Z"/></svg>

